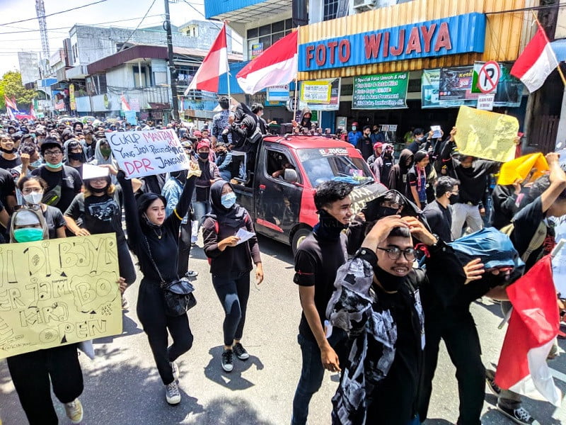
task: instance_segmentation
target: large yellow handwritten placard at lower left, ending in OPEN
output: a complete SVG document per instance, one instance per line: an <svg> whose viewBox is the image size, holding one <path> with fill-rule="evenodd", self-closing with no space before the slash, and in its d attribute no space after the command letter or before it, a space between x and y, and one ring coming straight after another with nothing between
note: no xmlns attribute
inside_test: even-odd
<svg viewBox="0 0 566 425"><path fill-rule="evenodd" d="M115 234L0 245L0 358L122 333Z"/></svg>

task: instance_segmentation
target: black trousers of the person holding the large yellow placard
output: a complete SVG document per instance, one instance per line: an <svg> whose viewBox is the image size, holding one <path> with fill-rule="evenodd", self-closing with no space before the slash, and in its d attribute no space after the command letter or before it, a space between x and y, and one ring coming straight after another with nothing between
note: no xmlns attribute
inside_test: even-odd
<svg viewBox="0 0 566 425"><path fill-rule="evenodd" d="M62 403L72 402L83 392L83 373L76 351L69 344L6 359L14 387L30 425L57 424L50 386Z"/></svg>

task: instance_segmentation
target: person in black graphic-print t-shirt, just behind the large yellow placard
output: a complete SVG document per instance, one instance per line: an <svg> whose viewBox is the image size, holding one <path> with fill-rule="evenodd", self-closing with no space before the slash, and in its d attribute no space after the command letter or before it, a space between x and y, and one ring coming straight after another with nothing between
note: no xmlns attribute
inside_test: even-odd
<svg viewBox="0 0 566 425"><path fill-rule="evenodd" d="M136 270L122 229L122 203L120 186L114 186L110 176L85 179L83 193L75 196L67 211L65 221L75 236L115 233L120 276L127 285L136 280ZM77 221L81 221L81 226Z"/></svg>

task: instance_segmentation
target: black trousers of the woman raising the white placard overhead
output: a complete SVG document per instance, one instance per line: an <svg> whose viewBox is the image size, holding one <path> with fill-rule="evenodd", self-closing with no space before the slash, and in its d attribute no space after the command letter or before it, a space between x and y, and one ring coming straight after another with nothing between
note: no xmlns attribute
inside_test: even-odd
<svg viewBox="0 0 566 425"><path fill-rule="evenodd" d="M146 278L142 279L137 298L137 317L149 340L159 376L163 384L168 385L173 382L170 362L190 350L193 337L187 314L177 317L167 316L164 302L163 292L158 283ZM171 346L169 346L168 333L173 339Z"/></svg>

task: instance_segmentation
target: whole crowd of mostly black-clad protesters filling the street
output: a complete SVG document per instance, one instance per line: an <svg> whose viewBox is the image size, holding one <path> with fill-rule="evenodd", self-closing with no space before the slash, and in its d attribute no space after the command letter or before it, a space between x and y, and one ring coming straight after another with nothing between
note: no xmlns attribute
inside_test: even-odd
<svg viewBox="0 0 566 425"><path fill-rule="evenodd" d="M259 103L231 108L221 97L219 106L210 128L178 122L164 127L178 134L190 170L142 179L125 178L107 136L161 128L151 121L134 126L4 120L0 130L2 242L115 233L117 285L124 293L141 278L137 315L169 404L181 400L175 360L191 348L193 336L186 313L171 317L164 310L159 283L197 278L188 264L199 229L225 312L219 364L226 373L233 370L233 356L249 358L241 339L254 266L256 282L263 280L258 239L240 243L236 236L241 229L255 231L249 212L236 203L234 186L253 176L257 140L269 126ZM293 132L330 137L311 118L308 108L302 111ZM566 174L558 154L550 153L549 171L538 179L531 173L509 186L494 185L492 174L502 164L458 154L457 131L433 137L416 128L398 159L378 126L360 129L354 123L350 132L332 136L354 145L386 188L357 214L351 183L325 181L314 190L318 223L295 255L301 374L291 424L306 424L325 370L340 372L329 422L422 423L441 339L456 366L458 424L481 424L486 380L501 412L519 424L537 423L521 397L497 387L495 372L483 365L469 307L484 296L506 302L504 288L550 254L553 218L566 215ZM105 171L93 174L92 167ZM487 255L465 256L451 244L478 231L495 232L490 241L499 252L498 266L490 266ZM30 424L57 424L51 387L71 421L83 419L76 357L77 344L70 344L8 358Z"/></svg>

